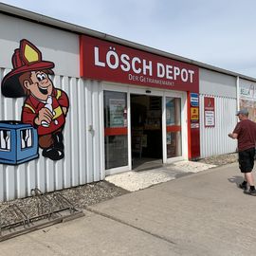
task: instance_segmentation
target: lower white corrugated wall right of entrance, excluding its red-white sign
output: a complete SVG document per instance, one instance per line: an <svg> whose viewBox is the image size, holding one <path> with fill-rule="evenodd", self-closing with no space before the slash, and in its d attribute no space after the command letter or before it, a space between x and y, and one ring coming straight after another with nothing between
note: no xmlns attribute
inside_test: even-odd
<svg viewBox="0 0 256 256"><path fill-rule="evenodd" d="M205 127L204 97L215 99L215 127ZM237 123L236 99L206 94L201 94L199 98L201 157L235 152L237 141L228 137L228 134L233 131Z"/></svg>

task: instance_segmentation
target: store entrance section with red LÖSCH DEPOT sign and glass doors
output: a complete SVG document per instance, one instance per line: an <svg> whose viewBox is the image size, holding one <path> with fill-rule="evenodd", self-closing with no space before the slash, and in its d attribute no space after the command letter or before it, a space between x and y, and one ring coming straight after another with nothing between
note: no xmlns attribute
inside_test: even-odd
<svg viewBox="0 0 256 256"><path fill-rule="evenodd" d="M193 109L198 108L196 66L82 35L81 76L102 82L106 174L150 159L168 163L189 154L199 157L199 116L195 113L194 126L187 123L191 93L197 97Z"/></svg>

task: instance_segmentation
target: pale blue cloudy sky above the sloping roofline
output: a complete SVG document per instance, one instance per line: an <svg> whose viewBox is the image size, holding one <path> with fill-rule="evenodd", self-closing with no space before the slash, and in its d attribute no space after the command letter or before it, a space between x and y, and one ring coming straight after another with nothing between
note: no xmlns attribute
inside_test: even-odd
<svg viewBox="0 0 256 256"><path fill-rule="evenodd" d="M256 78L256 1L2 1Z"/></svg>

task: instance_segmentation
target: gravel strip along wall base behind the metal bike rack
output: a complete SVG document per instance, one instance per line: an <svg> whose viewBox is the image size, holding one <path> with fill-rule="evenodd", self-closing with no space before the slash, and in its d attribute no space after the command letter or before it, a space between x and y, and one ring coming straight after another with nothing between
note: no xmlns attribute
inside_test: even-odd
<svg viewBox="0 0 256 256"><path fill-rule="evenodd" d="M100 203L101 201L125 194L127 191L114 186L106 181L86 184L76 188L66 189L59 192L49 192L44 195L45 200L40 200L40 196L29 196L27 198L0 202L1 226L15 225L22 222L24 212L29 219L37 218L42 214L48 214L51 210L60 210L70 207L64 201L55 201L58 194L66 198L77 210L85 209L87 206ZM50 200L50 203L47 201ZM64 204L63 204L64 202ZM39 207L40 206L40 207Z"/></svg>

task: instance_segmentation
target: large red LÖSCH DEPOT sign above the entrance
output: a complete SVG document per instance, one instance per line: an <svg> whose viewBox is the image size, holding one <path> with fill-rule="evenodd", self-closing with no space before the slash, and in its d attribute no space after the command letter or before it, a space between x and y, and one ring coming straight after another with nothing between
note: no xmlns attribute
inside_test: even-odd
<svg viewBox="0 0 256 256"><path fill-rule="evenodd" d="M198 67L132 47L81 36L81 77L198 92Z"/></svg>

